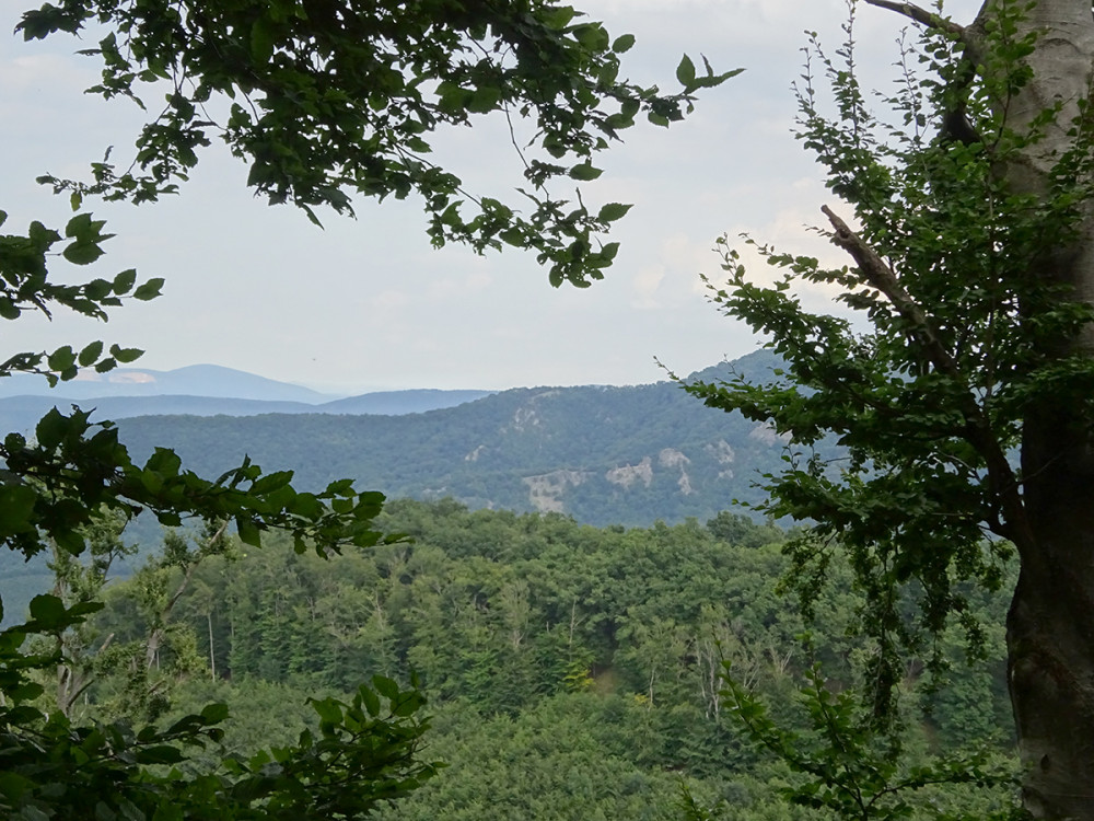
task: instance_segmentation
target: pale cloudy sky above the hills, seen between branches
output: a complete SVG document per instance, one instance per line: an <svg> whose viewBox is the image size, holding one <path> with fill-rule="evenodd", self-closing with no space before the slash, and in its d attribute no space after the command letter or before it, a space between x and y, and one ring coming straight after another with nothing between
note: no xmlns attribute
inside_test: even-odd
<svg viewBox="0 0 1094 821"><path fill-rule="evenodd" d="M36 3L27 2L27 7ZM136 267L164 277L163 297L116 309L103 325L82 317L21 319L9 325L4 358L92 339L146 349L139 366L170 370L213 363L331 393L408 388L501 390L532 385L639 384L686 374L755 350L761 339L719 314L699 275L720 275L714 241L728 235L845 259L811 227L822 205L839 210L818 166L792 135L792 84L802 73L806 31L835 51L845 0L575 0L614 36L638 37L622 73L675 88L682 54L705 55L718 71L744 73L702 93L683 124L640 123L596 164L586 203L633 203L613 231L621 243L592 288L551 288L534 255L477 256L433 250L414 198L354 200L357 219L321 213L324 229L291 207L269 207L245 186L246 166L217 147L178 196L139 208L90 204L116 234L94 266L57 268L57 278L110 278ZM974 0L951 0L958 22ZM4 3L0 31L18 22ZM861 5L858 59L885 90L907 20ZM81 176L107 146L127 157L141 124L126 102L82 94L94 63L69 36L24 44L0 37L0 229L37 219L61 227L71 212L34 178ZM874 82L876 78L876 82ZM477 193L505 199L521 184L517 158L497 120L438 140L437 158ZM565 192L563 192L565 193ZM515 199L510 197L510 201ZM847 207L843 213L847 215ZM767 266L743 248L757 278ZM803 294L824 308L829 294ZM833 309L835 310L835 309Z"/></svg>

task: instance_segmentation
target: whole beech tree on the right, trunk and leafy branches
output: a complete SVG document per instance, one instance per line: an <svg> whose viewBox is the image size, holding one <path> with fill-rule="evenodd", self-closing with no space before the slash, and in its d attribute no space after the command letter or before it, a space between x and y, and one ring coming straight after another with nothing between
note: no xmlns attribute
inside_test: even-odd
<svg viewBox="0 0 1094 821"><path fill-rule="evenodd" d="M1091 3L985 0L967 25L866 3L922 33L885 96L892 114L866 104L850 26L834 58L814 39L798 90L800 137L853 209L857 228L822 209L852 264L761 247L784 270L763 287L723 240L729 284L714 300L768 335L785 372L688 390L793 436L767 510L814 522L790 547L806 605L833 552L847 552L877 648L878 716L901 648L922 651L957 620L976 649L963 586L998 588L1016 553L1008 672L1024 802L1038 818L1092 819ZM833 85L831 117L816 68ZM801 281L834 287L865 323L803 310ZM811 455L827 435L843 461ZM901 617L908 595L921 604L915 623Z"/></svg>

